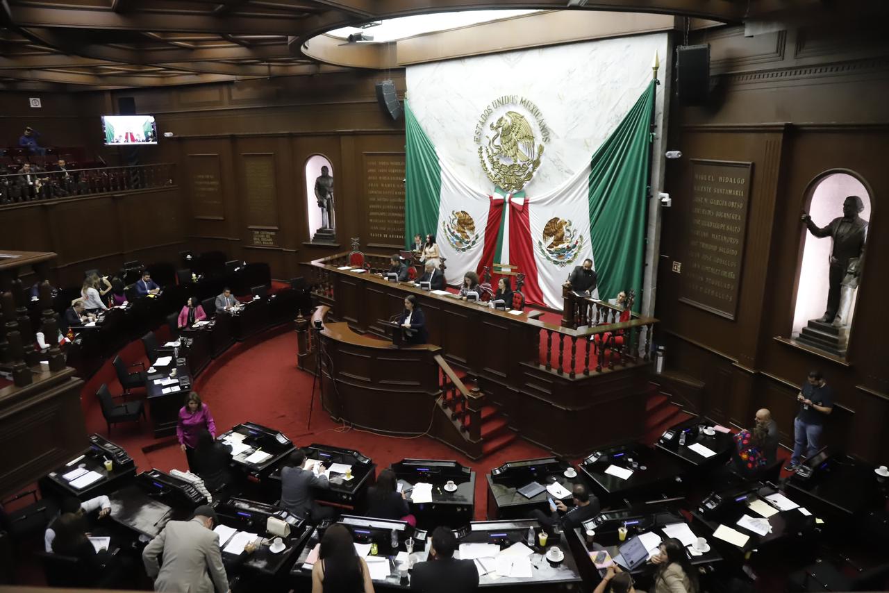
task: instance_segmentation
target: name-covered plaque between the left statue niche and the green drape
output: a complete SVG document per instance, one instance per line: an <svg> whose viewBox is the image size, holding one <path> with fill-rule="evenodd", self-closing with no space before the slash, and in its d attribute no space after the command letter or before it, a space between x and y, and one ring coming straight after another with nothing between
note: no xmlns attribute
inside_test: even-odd
<svg viewBox="0 0 889 593"><path fill-rule="evenodd" d="M404 247L404 153L364 154L368 244Z"/></svg>

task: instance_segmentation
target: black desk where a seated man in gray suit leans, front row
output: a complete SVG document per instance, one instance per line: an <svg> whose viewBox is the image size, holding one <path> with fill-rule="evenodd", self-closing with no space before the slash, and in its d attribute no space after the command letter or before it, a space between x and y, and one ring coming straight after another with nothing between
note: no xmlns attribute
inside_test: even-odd
<svg viewBox="0 0 889 593"><path fill-rule="evenodd" d="M313 489L315 500L353 513L363 512L367 488L376 481L377 464L354 449L317 443L301 449L306 453L307 460L321 461L328 469L329 487ZM268 484L273 491L269 494L275 498L281 496L281 468L286 464L287 459L282 459L269 476ZM352 470L352 479L346 479L342 466L348 466Z"/></svg>

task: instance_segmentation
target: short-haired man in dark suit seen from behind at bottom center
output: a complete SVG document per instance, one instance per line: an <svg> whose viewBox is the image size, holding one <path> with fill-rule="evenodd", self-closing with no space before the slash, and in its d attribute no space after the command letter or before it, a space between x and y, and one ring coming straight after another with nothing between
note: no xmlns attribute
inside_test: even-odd
<svg viewBox="0 0 889 593"><path fill-rule="evenodd" d="M478 570L472 560L454 560L457 538L447 527L432 532L429 559L413 566L411 590L423 593L471 593L478 589Z"/></svg>

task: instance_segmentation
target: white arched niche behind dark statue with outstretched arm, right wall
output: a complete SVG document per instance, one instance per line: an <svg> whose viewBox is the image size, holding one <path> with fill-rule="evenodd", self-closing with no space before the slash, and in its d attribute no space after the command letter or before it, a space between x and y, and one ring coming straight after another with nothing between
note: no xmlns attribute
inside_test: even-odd
<svg viewBox="0 0 889 593"><path fill-rule="evenodd" d="M815 177L805 192L804 210L812 217L812 221L820 228L827 227L831 220L843 216L843 203L848 196L859 196L864 210L859 214L862 219L870 220L871 191L860 175L846 169L833 169L822 172ZM793 315L793 336L808 324L809 320L818 319L825 313L829 292L830 255L833 250L832 237L814 236L801 225L800 255L798 258L798 281L795 294ZM854 319L855 301L858 291L853 293L849 308L848 333Z"/></svg>

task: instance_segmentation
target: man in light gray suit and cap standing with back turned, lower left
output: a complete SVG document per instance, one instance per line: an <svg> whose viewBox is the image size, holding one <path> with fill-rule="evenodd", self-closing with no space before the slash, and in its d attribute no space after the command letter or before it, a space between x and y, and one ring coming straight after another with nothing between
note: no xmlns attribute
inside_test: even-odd
<svg viewBox="0 0 889 593"><path fill-rule="evenodd" d="M222 565L220 536L213 533L216 511L209 505L195 509L190 521L170 521L142 551L145 572L156 591L228 593ZM249 550L248 550L249 551ZM164 557L164 565L157 557Z"/></svg>

